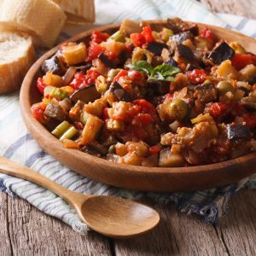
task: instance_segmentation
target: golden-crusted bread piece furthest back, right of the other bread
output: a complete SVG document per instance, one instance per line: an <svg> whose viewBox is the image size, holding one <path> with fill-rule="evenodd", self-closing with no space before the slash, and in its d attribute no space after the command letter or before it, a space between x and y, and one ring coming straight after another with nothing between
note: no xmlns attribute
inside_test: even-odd
<svg viewBox="0 0 256 256"><path fill-rule="evenodd" d="M84 23L95 21L94 0L52 0L59 4L67 14L68 23Z"/></svg>

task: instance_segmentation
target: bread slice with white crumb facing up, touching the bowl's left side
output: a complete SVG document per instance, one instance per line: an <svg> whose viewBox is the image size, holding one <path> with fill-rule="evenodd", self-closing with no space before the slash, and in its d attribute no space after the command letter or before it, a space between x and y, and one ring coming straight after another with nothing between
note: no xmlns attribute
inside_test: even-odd
<svg viewBox="0 0 256 256"><path fill-rule="evenodd" d="M34 60L32 38L0 32L0 94L18 90Z"/></svg>

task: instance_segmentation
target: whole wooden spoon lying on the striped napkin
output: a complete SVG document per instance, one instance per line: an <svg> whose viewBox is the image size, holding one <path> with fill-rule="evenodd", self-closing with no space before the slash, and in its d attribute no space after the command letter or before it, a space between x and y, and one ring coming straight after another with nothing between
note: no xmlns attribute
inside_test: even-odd
<svg viewBox="0 0 256 256"><path fill-rule="evenodd" d="M108 195L82 195L44 177L32 169L0 157L0 172L26 179L61 196L91 230L104 236L128 238L152 230L160 221L154 209L131 200Z"/></svg>

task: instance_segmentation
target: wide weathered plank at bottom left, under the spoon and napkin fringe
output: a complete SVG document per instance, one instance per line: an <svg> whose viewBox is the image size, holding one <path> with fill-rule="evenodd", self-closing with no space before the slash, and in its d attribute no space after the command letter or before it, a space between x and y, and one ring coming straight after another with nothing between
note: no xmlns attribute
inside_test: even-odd
<svg viewBox="0 0 256 256"><path fill-rule="evenodd" d="M3 193L2 193L3 194ZM67 224L39 212L28 202L8 197L8 204L2 195L0 219L4 213L9 218L9 236L14 255L111 255L108 238L90 232L81 236ZM7 195L6 195L7 196ZM1 207L2 208L2 207ZM3 230L2 230L3 227ZM7 248L0 247L0 255L10 255L8 237L0 224L0 237ZM7 232L8 233L8 232ZM9 254L8 254L9 253Z"/></svg>

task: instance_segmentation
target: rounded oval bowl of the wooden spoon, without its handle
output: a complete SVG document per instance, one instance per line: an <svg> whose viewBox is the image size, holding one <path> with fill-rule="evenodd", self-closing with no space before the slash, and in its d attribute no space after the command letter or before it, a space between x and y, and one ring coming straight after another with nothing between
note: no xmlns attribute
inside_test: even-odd
<svg viewBox="0 0 256 256"><path fill-rule="evenodd" d="M160 221L159 214L150 207L106 195L91 196L77 212L93 230L114 238L142 235Z"/></svg>

